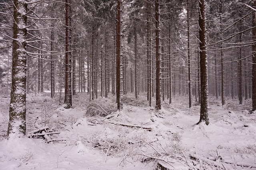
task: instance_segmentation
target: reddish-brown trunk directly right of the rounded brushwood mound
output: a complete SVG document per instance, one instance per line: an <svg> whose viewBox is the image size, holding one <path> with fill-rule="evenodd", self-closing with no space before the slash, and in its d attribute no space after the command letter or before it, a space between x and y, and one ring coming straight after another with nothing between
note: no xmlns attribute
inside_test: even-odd
<svg viewBox="0 0 256 170"><path fill-rule="evenodd" d="M116 35L116 102L117 109L123 110L123 70L122 70L122 0L117 2Z"/></svg>

